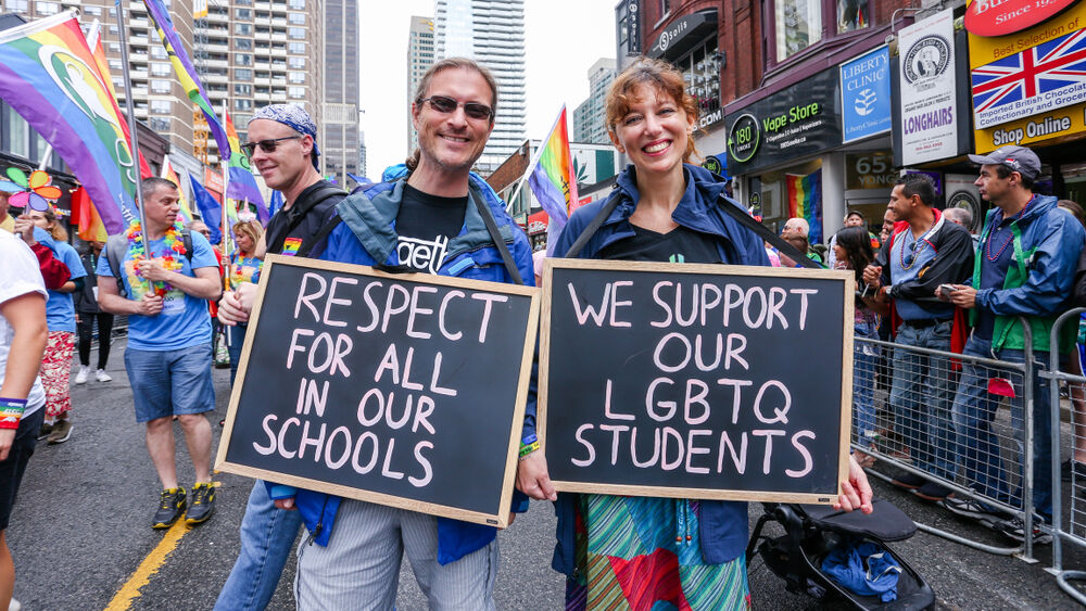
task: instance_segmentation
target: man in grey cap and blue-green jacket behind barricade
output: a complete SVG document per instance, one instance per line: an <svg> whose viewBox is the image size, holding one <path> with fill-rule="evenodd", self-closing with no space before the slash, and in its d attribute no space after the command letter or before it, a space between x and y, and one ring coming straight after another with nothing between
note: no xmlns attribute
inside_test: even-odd
<svg viewBox="0 0 1086 611"><path fill-rule="evenodd" d="M1030 322L1035 359L1033 509L1040 519L1051 522L1052 412L1048 381L1040 377L1043 367L1036 360L1047 360L1056 318L1072 307L1071 289L1086 232L1072 214L1058 207L1056 198L1033 192L1034 181L1040 175L1040 160L1030 149L1002 147L969 158L981 166L975 184L981 196L992 203L992 209L981 232L969 285L957 284L947 298L968 309L974 326L965 344L967 355L1023 362L1026 334L1021 321L1024 318ZM1063 327L1060 354L1072 352L1077 329L1077 324ZM1005 384L1000 392L997 380L1005 375L1010 378L1012 389ZM1014 441L1018 453L1022 453L1025 437L1022 383L1021 375L999 373L967 361L954 403L963 475L973 489L1012 507L1022 507L1022 491L1009 486L1011 473L1003 467L993 422L1001 400L997 394L1010 394ZM1022 461L1018 463L1021 470ZM1012 539L1025 540L1025 523L1019 518L1003 520L1002 514L971 499L947 499L945 506L958 514L988 522ZM1036 524L1035 537L1039 535ZM1041 535L1034 540L1040 543L1051 537Z"/></svg>

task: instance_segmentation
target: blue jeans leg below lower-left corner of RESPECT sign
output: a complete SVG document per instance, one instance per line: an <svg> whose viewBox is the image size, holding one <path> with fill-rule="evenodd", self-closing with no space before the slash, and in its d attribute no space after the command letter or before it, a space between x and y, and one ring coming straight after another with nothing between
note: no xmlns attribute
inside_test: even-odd
<svg viewBox="0 0 1086 611"><path fill-rule="evenodd" d="M215 602L216 611L263 610L279 585L302 525L298 511L278 509L256 480L241 520L241 552Z"/></svg>

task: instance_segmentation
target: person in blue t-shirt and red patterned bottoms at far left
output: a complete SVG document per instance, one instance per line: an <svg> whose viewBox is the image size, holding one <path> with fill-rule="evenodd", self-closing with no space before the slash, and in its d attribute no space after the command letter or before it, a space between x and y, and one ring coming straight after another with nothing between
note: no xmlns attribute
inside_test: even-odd
<svg viewBox="0 0 1086 611"><path fill-rule="evenodd" d="M67 243L67 231L56 221L52 207L46 211L27 209L16 226L30 222L35 226L34 239L63 263L72 277L63 285L49 291L46 302L46 320L49 342L41 359L41 385L46 389L46 418L38 438L48 435L50 444L64 443L72 436L72 353L75 351L75 305L72 293L83 290L84 277L79 253Z"/></svg>

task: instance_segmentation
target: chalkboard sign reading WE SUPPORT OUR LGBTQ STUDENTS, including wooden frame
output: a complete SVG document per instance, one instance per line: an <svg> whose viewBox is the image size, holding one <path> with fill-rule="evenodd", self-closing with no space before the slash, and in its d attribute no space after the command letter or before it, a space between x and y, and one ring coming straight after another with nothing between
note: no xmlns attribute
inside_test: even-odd
<svg viewBox="0 0 1086 611"><path fill-rule="evenodd" d="M546 259L539 432L559 491L832 502L850 272Z"/></svg>

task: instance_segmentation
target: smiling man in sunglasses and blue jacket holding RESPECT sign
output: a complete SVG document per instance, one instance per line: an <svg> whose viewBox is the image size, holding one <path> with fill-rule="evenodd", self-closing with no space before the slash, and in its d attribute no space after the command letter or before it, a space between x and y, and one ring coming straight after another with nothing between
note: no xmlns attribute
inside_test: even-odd
<svg viewBox="0 0 1086 611"><path fill-rule="evenodd" d="M496 102L487 68L458 58L433 64L411 107L419 149L406 168L340 203L320 258L532 284L527 236L470 173ZM299 609L392 609L405 553L431 608L494 609L495 529L313 491L274 496L310 530L298 553ZM516 510L527 509L518 498Z"/></svg>

